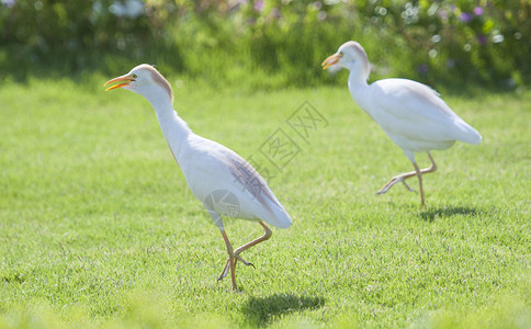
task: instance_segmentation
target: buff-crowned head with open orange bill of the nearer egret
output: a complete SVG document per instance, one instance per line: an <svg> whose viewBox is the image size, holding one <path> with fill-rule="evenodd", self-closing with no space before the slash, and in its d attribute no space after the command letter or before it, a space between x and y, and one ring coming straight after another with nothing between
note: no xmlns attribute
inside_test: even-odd
<svg viewBox="0 0 531 329"><path fill-rule="evenodd" d="M142 94L148 101L151 101L152 98L168 95L171 102L173 102L173 92L170 83L151 65L140 64L128 73L106 81L104 86L115 82L120 83L109 87L105 91L123 88Z"/></svg>

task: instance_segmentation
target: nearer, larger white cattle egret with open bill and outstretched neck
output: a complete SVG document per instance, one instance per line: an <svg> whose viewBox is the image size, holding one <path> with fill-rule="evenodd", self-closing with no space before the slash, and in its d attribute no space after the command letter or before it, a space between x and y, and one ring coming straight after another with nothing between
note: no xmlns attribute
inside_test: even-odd
<svg viewBox="0 0 531 329"><path fill-rule="evenodd" d="M292 224L290 215L249 162L223 145L192 133L173 110L170 83L152 66L139 65L128 73L108 81L105 86L110 83L117 84L106 90L124 88L139 93L155 109L166 141L190 190L207 209L227 247L228 260L217 280L221 281L230 272L233 290L236 291L237 261L252 265L240 253L271 237L272 231L263 222L287 228ZM256 220L264 234L233 250L222 216Z"/></svg>

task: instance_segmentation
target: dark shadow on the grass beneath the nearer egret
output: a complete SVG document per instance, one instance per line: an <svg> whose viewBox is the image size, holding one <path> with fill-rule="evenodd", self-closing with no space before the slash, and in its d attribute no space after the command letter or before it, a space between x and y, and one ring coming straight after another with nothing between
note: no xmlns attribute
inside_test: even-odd
<svg viewBox="0 0 531 329"><path fill-rule="evenodd" d="M294 296L292 294L274 294L268 297L253 297L244 305L242 311L250 325L264 327L274 317L287 315L304 309L315 309L325 305L324 297Z"/></svg>

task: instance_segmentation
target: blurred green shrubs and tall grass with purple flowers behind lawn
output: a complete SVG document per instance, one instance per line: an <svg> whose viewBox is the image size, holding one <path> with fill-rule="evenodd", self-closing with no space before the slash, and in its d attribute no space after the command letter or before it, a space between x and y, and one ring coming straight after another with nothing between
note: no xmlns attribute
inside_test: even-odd
<svg viewBox="0 0 531 329"><path fill-rule="evenodd" d="M149 63L213 84L344 83L320 61L355 39L372 79L518 90L531 82L530 15L530 0L1 0L0 79Z"/></svg>

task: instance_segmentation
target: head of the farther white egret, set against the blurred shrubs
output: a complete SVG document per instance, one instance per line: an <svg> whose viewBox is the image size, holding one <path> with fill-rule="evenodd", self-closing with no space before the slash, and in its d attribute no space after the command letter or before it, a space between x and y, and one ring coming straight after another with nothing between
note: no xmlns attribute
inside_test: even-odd
<svg viewBox="0 0 531 329"><path fill-rule="evenodd" d="M334 67L349 70L358 69L366 78L369 78L370 72L370 64L365 50L359 43L353 41L342 44L336 54L323 61L321 66L323 69Z"/></svg>

